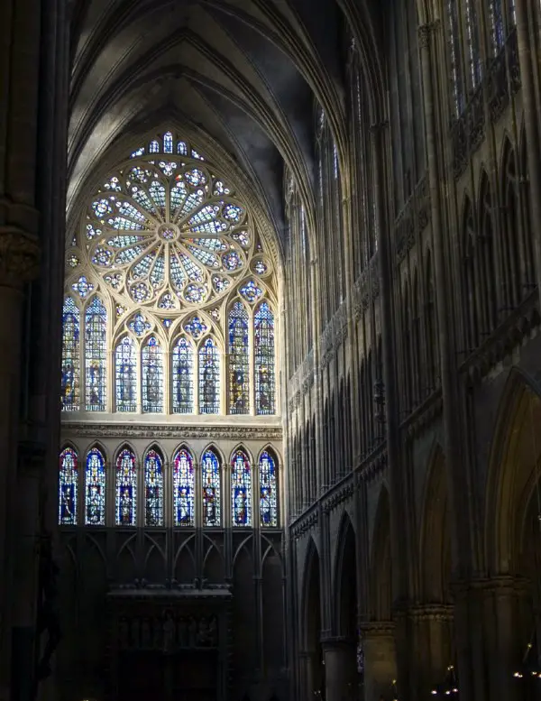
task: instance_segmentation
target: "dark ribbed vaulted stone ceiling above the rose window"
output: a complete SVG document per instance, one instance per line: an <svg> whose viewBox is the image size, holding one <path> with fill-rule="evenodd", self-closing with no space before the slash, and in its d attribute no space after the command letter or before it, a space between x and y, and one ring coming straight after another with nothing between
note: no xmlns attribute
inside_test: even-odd
<svg viewBox="0 0 541 701"><path fill-rule="evenodd" d="M341 27L344 13L353 12L353 24L362 23L362 14L353 0L340 5L75 0L69 210L125 134L136 140L174 120L206 134L233 158L283 235L284 163L307 207L314 201L316 102L326 110L339 150L344 147Z"/></svg>

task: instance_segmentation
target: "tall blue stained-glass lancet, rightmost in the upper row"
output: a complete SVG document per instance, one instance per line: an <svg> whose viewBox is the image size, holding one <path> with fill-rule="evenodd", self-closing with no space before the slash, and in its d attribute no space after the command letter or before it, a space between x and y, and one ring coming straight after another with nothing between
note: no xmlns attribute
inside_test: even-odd
<svg viewBox="0 0 541 701"><path fill-rule="evenodd" d="M255 410L257 414L275 412L274 315L267 302L261 302L253 320L255 355Z"/></svg>

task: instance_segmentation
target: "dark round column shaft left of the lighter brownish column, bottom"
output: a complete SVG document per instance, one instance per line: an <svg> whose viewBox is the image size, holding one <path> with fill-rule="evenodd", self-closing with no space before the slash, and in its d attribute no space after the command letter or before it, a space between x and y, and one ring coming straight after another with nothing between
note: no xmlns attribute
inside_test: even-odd
<svg viewBox="0 0 541 701"><path fill-rule="evenodd" d="M357 655L354 641L323 641L326 701L353 701L357 697Z"/></svg>

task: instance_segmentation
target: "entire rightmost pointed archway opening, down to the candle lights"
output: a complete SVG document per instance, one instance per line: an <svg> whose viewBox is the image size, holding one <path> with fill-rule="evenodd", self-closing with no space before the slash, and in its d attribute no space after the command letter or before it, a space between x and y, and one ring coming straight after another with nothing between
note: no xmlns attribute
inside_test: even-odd
<svg viewBox="0 0 541 701"><path fill-rule="evenodd" d="M541 392L513 368L500 403L487 485L485 542L489 586L483 591L490 641L491 696L534 698L524 659L539 666L541 641ZM528 644L533 647L528 649ZM529 652L528 652L529 650ZM538 679L536 686L538 687Z"/></svg>

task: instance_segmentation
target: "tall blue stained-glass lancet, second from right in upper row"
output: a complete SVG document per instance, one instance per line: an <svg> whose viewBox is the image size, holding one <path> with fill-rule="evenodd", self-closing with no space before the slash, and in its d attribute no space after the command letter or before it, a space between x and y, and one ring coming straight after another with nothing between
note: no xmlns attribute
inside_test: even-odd
<svg viewBox="0 0 541 701"><path fill-rule="evenodd" d="M235 302L229 312L229 412L250 411L250 360L248 356L248 312Z"/></svg>

